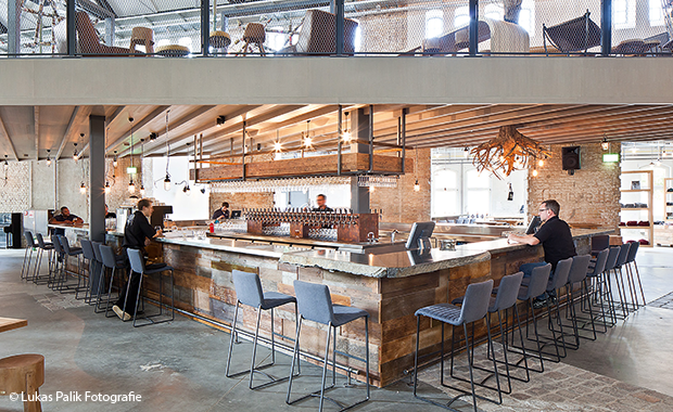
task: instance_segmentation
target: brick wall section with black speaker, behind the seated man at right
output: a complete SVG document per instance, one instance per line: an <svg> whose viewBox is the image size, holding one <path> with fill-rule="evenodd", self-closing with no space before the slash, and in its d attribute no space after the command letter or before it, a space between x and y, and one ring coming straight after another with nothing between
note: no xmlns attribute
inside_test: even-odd
<svg viewBox="0 0 673 412"><path fill-rule="evenodd" d="M602 163L599 143L581 147L582 169L574 176L561 168L561 145L551 145L553 157L538 168L537 177L529 172L529 219L537 213L541 202L554 198L561 205L560 218L570 223L598 223L618 229L621 167ZM610 149L619 153L621 144L611 143Z"/></svg>

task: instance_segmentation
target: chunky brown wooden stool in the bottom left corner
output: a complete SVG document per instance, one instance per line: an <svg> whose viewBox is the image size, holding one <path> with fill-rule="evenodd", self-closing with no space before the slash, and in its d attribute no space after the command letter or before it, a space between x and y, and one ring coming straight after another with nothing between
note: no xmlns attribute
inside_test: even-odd
<svg viewBox="0 0 673 412"><path fill-rule="evenodd" d="M0 396L25 394L24 412L41 412L39 387L45 384L45 357L37 353L0 359Z"/></svg>

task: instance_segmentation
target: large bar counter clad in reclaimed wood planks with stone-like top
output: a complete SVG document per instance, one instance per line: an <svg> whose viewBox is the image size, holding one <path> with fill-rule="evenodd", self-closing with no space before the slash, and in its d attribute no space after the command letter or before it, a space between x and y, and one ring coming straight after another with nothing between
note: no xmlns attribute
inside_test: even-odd
<svg viewBox="0 0 673 412"><path fill-rule="evenodd" d="M591 237L610 230L573 230L577 253L588 253ZM203 233L203 232L202 232ZM234 236L236 237L236 236ZM456 250L432 249L419 255L412 252L354 253L341 249L264 244L238 239L162 237L158 258L175 268L176 307L189 313L230 324L233 320L236 292L231 280L234 269L259 274L265 291L294 295L294 280L322 283L330 287L332 300L365 309L370 314L370 377L377 386L389 385L405 376L414 365L416 317L424 306L449 302L462 296L467 285L486 279L515 273L523 262L541 260L541 246L508 244L506 239L478 242ZM381 253L383 252L383 253ZM152 297L157 285L145 283ZM263 312L262 334L270 337L270 318ZM242 307L244 329L252 331L255 311ZM338 336L336 361L364 371L364 321L342 326ZM295 336L292 305L276 311L277 339L292 346ZM485 331L485 330L484 330ZM421 322L422 353L436 350L441 326L429 319ZM447 331L450 333L450 331ZM301 347L318 355L322 351L326 327L305 322ZM448 336L448 335L447 335ZM355 358L346 358L345 352ZM221 361L221 362L220 362ZM214 360L224 368L224 360ZM218 363L221 363L218 365ZM359 373L356 378L364 378Z"/></svg>

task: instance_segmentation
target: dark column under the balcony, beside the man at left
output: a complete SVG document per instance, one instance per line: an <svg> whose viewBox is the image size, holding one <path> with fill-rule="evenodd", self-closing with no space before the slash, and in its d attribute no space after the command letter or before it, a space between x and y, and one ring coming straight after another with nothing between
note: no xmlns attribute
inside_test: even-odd
<svg viewBox="0 0 673 412"><path fill-rule="evenodd" d="M89 239L105 241L105 117L89 116Z"/></svg>

